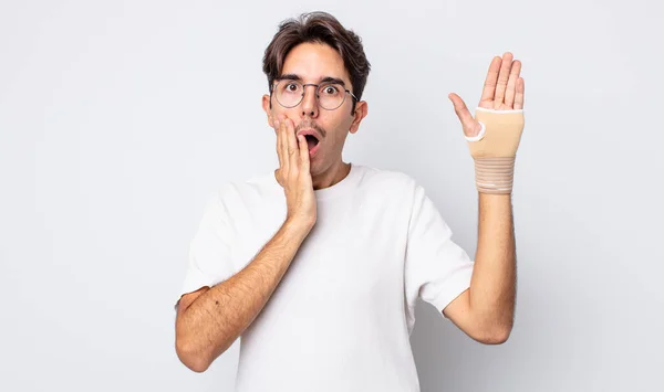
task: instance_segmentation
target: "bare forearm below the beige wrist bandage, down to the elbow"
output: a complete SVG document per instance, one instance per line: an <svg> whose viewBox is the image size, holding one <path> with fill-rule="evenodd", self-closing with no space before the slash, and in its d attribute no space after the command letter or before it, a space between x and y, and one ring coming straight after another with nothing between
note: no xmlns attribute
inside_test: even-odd
<svg viewBox="0 0 664 392"><path fill-rule="evenodd" d="M479 193L478 215L470 311L481 330L509 333L517 284L511 195Z"/></svg>

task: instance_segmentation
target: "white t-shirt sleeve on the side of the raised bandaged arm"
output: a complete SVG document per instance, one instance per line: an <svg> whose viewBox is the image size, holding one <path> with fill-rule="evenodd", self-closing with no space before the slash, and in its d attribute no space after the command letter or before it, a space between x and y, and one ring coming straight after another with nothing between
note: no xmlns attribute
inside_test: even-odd
<svg viewBox="0 0 664 392"><path fill-rule="evenodd" d="M438 209L424 189L415 186L405 259L411 315L417 298L442 312L470 287L473 267L474 262L466 251L452 240L452 230Z"/></svg>

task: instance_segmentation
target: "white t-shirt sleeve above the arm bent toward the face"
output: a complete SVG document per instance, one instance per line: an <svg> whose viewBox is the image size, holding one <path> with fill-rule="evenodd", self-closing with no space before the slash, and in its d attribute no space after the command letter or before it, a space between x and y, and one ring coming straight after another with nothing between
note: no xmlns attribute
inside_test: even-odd
<svg viewBox="0 0 664 392"><path fill-rule="evenodd" d="M198 229L189 243L187 269L179 298L208 286L212 287L232 276L232 224L220 189L212 194L204 209Z"/></svg>

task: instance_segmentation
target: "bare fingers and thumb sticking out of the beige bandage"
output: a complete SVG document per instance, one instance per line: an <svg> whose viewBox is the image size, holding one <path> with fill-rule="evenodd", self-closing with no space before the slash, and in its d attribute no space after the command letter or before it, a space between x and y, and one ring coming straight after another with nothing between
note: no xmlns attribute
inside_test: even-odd
<svg viewBox="0 0 664 392"><path fill-rule="evenodd" d="M491 110L523 109L525 85L520 74L521 62L513 60L511 53L507 52L502 57L494 57L489 65L478 107ZM473 118L464 99L455 93L449 94L449 99L461 121L464 134L467 137L477 136L481 126Z"/></svg>

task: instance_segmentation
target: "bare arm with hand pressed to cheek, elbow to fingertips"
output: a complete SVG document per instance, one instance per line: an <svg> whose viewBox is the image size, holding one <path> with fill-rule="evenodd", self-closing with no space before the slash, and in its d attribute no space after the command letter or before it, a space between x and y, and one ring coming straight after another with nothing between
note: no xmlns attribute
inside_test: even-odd
<svg viewBox="0 0 664 392"><path fill-rule="evenodd" d="M279 231L240 272L212 288L180 298L176 316L176 352L189 369L203 372L226 351L266 306L317 221L309 149L294 124L274 121L287 219Z"/></svg>

